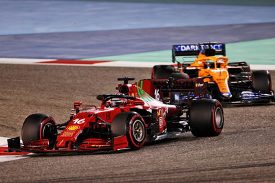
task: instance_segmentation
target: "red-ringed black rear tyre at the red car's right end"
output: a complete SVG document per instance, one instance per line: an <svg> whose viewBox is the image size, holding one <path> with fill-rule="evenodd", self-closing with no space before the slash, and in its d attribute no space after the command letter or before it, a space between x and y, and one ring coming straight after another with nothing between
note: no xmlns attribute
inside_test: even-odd
<svg viewBox="0 0 275 183"><path fill-rule="evenodd" d="M194 100L189 115L194 136L219 136L223 129L223 107L218 100Z"/></svg>

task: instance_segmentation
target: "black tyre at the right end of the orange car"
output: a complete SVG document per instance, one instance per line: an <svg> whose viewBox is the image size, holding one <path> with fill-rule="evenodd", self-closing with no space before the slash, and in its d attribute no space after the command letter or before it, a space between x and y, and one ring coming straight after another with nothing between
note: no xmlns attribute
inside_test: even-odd
<svg viewBox="0 0 275 183"><path fill-rule="evenodd" d="M270 94L272 90L270 72L267 70L252 72L252 86L254 92Z"/></svg>

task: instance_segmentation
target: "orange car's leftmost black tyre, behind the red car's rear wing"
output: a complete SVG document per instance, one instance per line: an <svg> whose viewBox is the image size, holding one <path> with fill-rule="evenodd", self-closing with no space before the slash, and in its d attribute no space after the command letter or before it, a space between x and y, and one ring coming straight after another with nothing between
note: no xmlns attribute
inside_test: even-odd
<svg viewBox="0 0 275 183"><path fill-rule="evenodd" d="M175 72L173 65L155 65L152 69L153 79L168 79Z"/></svg>

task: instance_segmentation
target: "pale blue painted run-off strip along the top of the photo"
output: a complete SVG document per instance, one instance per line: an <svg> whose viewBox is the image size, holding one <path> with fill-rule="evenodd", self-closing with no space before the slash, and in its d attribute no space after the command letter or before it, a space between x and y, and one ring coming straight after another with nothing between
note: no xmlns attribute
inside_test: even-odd
<svg viewBox="0 0 275 183"><path fill-rule="evenodd" d="M274 11L274 6L2 0L0 34L267 23L275 21Z"/></svg>

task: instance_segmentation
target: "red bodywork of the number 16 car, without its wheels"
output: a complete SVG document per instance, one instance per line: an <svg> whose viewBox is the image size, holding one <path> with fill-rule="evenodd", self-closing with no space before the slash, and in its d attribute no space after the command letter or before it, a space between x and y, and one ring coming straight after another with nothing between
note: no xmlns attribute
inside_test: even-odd
<svg viewBox="0 0 275 183"><path fill-rule="evenodd" d="M153 91L155 87L143 80L146 83L146 91ZM61 133L56 138L54 147L49 147L49 140L41 139L25 144L21 147L21 151L33 152L58 152L58 151L87 151L87 150L118 150L129 147L129 142L126 136L115 138L83 138L87 129L89 131L104 131L111 133L109 125L113 122L113 118L117 114L125 111L146 111L152 113L155 109L157 116L155 123L158 123L158 131L162 132L166 129L166 120L171 116L181 116L181 109L177 105L167 105L149 94L144 92L144 89L138 86L139 83L124 84L118 86L118 91L124 89L126 96L133 96L133 99L126 99L126 103L118 107L112 107L110 101L102 99L102 105L96 107L94 105L83 105L81 102L74 103L74 113L72 120L62 129ZM144 85L145 86L145 85ZM151 89L150 89L151 88ZM150 92L149 92L150 93ZM49 120L54 121L52 117L47 118L43 122ZM144 120L146 128L152 121ZM78 145L76 145L78 144Z"/></svg>

